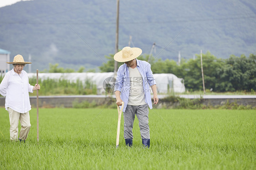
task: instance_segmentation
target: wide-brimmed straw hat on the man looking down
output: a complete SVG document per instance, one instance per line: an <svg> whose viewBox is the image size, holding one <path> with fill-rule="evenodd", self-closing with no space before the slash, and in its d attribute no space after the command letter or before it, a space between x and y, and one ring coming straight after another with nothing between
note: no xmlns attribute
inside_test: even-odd
<svg viewBox="0 0 256 170"><path fill-rule="evenodd" d="M114 55L114 60L118 62L130 61L137 58L141 53L142 50L140 48L124 47L123 50Z"/></svg>

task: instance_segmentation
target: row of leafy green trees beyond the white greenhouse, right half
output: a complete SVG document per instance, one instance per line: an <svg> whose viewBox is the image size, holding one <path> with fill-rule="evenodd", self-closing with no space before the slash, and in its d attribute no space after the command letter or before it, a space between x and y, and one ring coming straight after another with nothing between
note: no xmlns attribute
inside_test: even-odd
<svg viewBox="0 0 256 170"><path fill-rule="evenodd" d="M114 70L114 55L105 56L107 63L100 66L102 72ZM150 63L154 74L172 73L184 79L186 89L202 90L202 73L200 55L195 60L181 60L180 65L174 60L156 60L153 56L141 55L139 60ZM218 59L209 51L202 54L205 88L214 91L256 90L256 55L251 54L249 58L245 55L236 57L231 55L228 60ZM118 67L123 63L118 62Z"/></svg>

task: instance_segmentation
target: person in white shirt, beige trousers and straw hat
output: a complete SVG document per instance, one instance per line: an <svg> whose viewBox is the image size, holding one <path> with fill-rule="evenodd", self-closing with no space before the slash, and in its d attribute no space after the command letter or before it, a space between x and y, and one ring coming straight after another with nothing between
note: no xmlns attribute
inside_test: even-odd
<svg viewBox="0 0 256 170"><path fill-rule="evenodd" d="M0 84L0 94L5 96L5 109L10 118L10 140L18 140L18 125L20 120L20 142L27 139L30 130L29 110L31 110L29 94L33 90L39 90L40 85L32 86L29 84L28 75L23 70L25 62L22 55L16 55L13 62L7 62L13 65L13 69L8 71Z"/></svg>

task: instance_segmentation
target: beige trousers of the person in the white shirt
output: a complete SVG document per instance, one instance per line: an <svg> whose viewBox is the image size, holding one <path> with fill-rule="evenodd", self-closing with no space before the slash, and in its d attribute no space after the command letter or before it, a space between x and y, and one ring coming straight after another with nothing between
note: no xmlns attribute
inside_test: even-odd
<svg viewBox="0 0 256 170"><path fill-rule="evenodd" d="M12 110L8 107L8 113L10 118L10 140L18 140L18 125L20 120L21 130L20 130L20 139L26 140L28 132L30 130L30 117L29 112L19 113L15 110Z"/></svg>

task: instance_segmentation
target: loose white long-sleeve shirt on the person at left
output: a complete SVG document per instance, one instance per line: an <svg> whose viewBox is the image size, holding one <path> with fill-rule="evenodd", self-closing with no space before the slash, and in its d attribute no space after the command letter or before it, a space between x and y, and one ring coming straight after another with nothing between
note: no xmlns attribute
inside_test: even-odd
<svg viewBox="0 0 256 170"><path fill-rule="evenodd" d="M8 71L0 84L0 94L5 96L5 109L8 107L26 113L31 110L29 93L33 93L33 86L29 84L26 71L17 74L14 69Z"/></svg>

